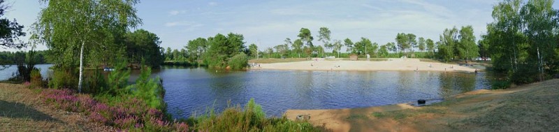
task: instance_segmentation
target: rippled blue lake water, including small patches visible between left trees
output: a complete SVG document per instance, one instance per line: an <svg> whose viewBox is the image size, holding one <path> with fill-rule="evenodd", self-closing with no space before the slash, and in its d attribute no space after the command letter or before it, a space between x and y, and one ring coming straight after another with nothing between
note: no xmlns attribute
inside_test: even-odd
<svg viewBox="0 0 559 132"><path fill-rule="evenodd" d="M50 65L39 65L45 75ZM14 68L14 69L11 69ZM15 71L0 71L2 78ZM13 70L13 71L10 71ZM138 78L133 71L131 82ZM164 100L174 117L218 112L231 105L244 105L250 98L262 105L268 116L281 116L288 109L364 108L446 98L475 89L490 89L488 73L435 71L215 71L207 68L164 66L153 70L166 89Z"/></svg>

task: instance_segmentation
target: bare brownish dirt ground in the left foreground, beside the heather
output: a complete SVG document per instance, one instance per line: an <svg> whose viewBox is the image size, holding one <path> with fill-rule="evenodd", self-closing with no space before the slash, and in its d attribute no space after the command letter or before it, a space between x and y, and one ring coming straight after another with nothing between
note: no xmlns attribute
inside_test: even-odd
<svg viewBox="0 0 559 132"><path fill-rule="evenodd" d="M0 83L0 131L114 131L45 105L37 89Z"/></svg>

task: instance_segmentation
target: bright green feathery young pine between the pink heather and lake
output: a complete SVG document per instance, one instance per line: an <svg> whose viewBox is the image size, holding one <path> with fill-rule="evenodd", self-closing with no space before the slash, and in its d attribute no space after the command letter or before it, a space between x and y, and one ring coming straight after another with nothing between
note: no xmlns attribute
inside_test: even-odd
<svg viewBox="0 0 559 132"><path fill-rule="evenodd" d="M129 85L126 89L131 92L131 95L140 98L151 108L164 110L166 104L163 101L165 90L158 82L160 78L150 78L152 69L144 66L140 73L140 77L136 80L136 84Z"/></svg>

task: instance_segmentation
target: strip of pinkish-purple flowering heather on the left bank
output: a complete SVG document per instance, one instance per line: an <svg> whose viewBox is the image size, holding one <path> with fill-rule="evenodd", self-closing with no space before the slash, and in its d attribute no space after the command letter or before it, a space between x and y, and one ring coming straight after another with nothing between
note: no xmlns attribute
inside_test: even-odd
<svg viewBox="0 0 559 132"><path fill-rule="evenodd" d="M107 105L95 101L87 94L75 94L70 89L44 89L41 98L57 108L71 112L83 112L92 122L109 124L123 130L188 131L182 122L168 122L164 112L150 108L138 98L122 96L118 103Z"/></svg>

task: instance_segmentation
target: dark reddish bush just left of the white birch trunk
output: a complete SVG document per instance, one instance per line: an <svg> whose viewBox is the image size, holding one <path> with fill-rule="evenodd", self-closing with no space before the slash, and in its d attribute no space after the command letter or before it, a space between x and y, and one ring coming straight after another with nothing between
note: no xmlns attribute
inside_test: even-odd
<svg viewBox="0 0 559 132"><path fill-rule="evenodd" d="M55 89L75 89L78 86L78 78L78 73L71 68L57 68L48 86Z"/></svg>

